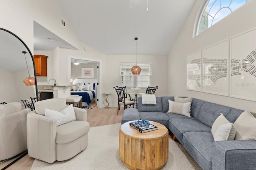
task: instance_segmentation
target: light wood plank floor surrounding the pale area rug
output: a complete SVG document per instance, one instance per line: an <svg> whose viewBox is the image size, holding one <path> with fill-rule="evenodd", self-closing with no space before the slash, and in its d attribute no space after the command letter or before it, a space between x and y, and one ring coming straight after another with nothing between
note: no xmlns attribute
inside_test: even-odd
<svg viewBox="0 0 256 170"><path fill-rule="evenodd" d="M87 121L90 123L90 127L98 127L102 125L111 125L121 123L124 107L121 107L119 115L117 115L117 108L110 107L109 109L97 108L96 102L92 103L95 107L87 110ZM30 170L34 162L34 158L31 158L26 154L20 160L9 166L6 170ZM12 160L6 161L0 164L0 169L8 165Z"/></svg>

